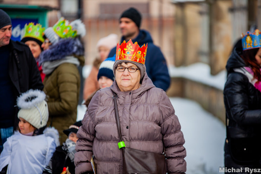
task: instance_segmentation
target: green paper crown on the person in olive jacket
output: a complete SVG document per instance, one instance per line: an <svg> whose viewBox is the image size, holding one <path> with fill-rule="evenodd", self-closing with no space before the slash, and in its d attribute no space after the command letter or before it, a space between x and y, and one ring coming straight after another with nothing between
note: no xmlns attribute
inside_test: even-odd
<svg viewBox="0 0 261 174"><path fill-rule="evenodd" d="M75 38L77 36L77 30L73 30L69 21L65 20L63 17L56 22L53 29L60 38Z"/></svg>

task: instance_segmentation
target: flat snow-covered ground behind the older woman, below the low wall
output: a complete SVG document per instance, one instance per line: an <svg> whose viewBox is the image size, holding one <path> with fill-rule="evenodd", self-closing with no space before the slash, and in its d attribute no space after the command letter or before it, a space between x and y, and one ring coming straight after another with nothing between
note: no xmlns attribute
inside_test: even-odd
<svg viewBox="0 0 261 174"><path fill-rule="evenodd" d="M224 166L225 125L192 100L176 97L170 97L170 100L186 141L186 173L220 174L219 167ZM85 111L85 106L78 106L77 121L83 118Z"/></svg>

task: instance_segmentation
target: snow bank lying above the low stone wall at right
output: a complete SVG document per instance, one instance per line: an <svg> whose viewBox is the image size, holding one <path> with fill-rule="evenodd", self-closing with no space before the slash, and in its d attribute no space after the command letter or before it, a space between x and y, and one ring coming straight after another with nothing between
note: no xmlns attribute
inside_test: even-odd
<svg viewBox="0 0 261 174"><path fill-rule="evenodd" d="M223 70L217 75L210 74L210 67L208 64L195 63L186 67L169 66L168 71L171 77L183 77L190 80L198 81L217 89L223 90L226 80L227 71Z"/></svg>

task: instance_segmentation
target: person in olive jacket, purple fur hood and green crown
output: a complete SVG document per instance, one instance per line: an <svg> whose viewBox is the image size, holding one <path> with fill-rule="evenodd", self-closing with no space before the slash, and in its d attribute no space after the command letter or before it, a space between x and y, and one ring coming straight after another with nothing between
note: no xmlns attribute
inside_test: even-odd
<svg viewBox="0 0 261 174"><path fill-rule="evenodd" d="M80 20L69 24L61 18L54 27L44 31L44 51L40 55L39 63L46 74L43 81L44 92L49 97L47 126L54 126L58 130L60 142L67 139L63 130L73 125L77 118L80 93L80 74L77 66L84 64L84 49L79 38L81 25L83 24ZM85 30L84 27L83 29ZM77 31L77 34L74 31ZM63 36L61 33L68 35ZM77 36L73 37L73 33Z"/></svg>

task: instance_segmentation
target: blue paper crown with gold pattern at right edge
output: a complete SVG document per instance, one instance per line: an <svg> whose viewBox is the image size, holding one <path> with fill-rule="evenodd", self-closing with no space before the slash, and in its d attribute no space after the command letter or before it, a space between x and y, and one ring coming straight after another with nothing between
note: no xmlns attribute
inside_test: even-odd
<svg viewBox="0 0 261 174"><path fill-rule="evenodd" d="M258 29L255 30L254 33L250 33L250 31L246 32L246 35L242 33L242 46L243 50L249 50L253 48L261 47L261 35Z"/></svg>

